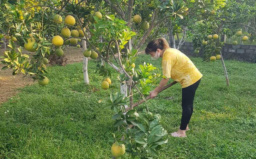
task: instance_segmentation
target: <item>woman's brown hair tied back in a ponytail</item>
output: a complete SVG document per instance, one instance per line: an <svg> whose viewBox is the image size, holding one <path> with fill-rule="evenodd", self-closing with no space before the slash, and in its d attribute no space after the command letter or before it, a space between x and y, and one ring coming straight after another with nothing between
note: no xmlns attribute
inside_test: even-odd
<svg viewBox="0 0 256 159"><path fill-rule="evenodd" d="M149 54L150 52L155 52L158 48L161 50L164 48L170 48L165 38L160 37L156 40L150 41L145 49L145 53Z"/></svg>

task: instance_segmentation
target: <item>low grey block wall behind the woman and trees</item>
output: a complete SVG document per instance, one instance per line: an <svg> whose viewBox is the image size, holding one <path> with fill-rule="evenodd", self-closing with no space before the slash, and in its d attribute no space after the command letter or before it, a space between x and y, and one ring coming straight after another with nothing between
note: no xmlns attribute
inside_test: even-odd
<svg viewBox="0 0 256 159"><path fill-rule="evenodd" d="M176 42L177 44L178 42ZM176 46L178 47L178 46ZM194 53L195 48L192 42L185 42L181 47L180 51L188 56L203 57L203 51L200 50L198 55ZM222 48L222 56L224 59L234 59L239 61L247 61L256 63L256 45L237 45L226 44Z"/></svg>

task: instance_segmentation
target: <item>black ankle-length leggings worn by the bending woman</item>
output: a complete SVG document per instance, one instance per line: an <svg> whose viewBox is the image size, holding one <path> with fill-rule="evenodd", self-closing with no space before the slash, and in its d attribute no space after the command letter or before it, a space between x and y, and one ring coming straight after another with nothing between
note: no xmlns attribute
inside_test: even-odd
<svg viewBox="0 0 256 159"><path fill-rule="evenodd" d="M197 82L188 87L182 88L182 116L180 130L186 130L187 124L190 121L190 118L193 113L194 97L200 81L201 79L199 79Z"/></svg>

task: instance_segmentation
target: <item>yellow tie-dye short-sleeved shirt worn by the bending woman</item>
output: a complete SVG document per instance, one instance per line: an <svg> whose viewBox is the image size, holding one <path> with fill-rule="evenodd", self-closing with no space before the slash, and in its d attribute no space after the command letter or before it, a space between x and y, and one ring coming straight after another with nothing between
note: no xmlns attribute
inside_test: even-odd
<svg viewBox="0 0 256 159"><path fill-rule="evenodd" d="M163 76L180 83L182 88L194 84L203 76L193 62L175 48L168 48L164 51L162 71Z"/></svg>

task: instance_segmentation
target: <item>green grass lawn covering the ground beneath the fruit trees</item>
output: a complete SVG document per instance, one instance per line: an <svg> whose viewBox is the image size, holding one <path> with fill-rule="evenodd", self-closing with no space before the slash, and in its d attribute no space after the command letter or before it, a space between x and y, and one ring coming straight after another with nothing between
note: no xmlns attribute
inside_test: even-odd
<svg viewBox="0 0 256 159"><path fill-rule="evenodd" d="M194 100L191 130L187 138L170 137L159 159L256 158L256 64L227 60L227 87L221 61L191 59L203 74ZM136 67L144 61L161 69L161 60L153 61L146 55L139 56ZM2 103L0 159L110 159L112 143L108 138L116 128L111 119L113 111L104 109L104 105L110 92L119 91L119 82L117 73L113 73L116 88L102 90L95 65L89 60L89 85L83 83L82 63L49 67L48 85L27 86ZM150 99L148 105L150 111L162 115L168 133L177 130L180 84Z"/></svg>

